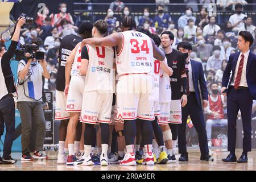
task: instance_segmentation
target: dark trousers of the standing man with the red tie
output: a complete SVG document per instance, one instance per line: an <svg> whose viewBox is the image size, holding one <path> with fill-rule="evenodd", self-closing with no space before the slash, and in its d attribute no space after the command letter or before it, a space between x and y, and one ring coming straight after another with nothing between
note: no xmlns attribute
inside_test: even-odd
<svg viewBox="0 0 256 182"><path fill-rule="evenodd" d="M235 90L231 86L228 92L228 151L236 150L236 124L238 110L241 111L243 123L243 151L251 151L251 109L253 107L253 97L248 89Z"/></svg>

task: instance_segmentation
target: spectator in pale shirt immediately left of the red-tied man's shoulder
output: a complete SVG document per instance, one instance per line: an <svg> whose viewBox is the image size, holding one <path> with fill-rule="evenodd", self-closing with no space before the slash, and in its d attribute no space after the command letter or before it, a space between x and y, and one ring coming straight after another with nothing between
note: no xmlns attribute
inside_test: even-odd
<svg viewBox="0 0 256 182"><path fill-rule="evenodd" d="M220 51L220 46L213 47L213 55L210 56L207 61L206 71L209 71L209 69L217 70L221 68L222 60L224 60L225 57L220 54Z"/></svg>

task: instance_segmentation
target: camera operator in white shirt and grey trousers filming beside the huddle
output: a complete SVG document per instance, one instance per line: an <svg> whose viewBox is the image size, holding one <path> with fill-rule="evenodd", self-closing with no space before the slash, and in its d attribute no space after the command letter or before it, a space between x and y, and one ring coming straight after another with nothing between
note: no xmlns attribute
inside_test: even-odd
<svg viewBox="0 0 256 182"><path fill-rule="evenodd" d="M18 64L17 107L22 121L22 158L21 160L47 159L43 151L46 137L46 121L42 105L42 76L49 78L46 60L36 60L35 53L28 53ZM36 123L34 155L30 155L30 135L32 122Z"/></svg>

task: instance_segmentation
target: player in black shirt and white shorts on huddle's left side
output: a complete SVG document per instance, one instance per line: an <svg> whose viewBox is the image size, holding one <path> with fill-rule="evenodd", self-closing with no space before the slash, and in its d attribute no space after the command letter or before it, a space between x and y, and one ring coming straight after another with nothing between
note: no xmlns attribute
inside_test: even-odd
<svg viewBox="0 0 256 182"><path fill-rule="evenodd" d="M55 120L61 121L59 126L59 153L57 155L57 164L65 164L67 156L64 152L65 138L67 134L67 126L69 121L69 113L65 112L67 99L65 98L65 64L67 57L76 47L77 43L84 38L90 38L92 35L93 24L84 22L79 27L79 35L67 35L61 40L59 51L59 69L56 76L56 108ZM77 136L79 138L79 136ZM76 139L79 141L79 139ZM65 147L66 148L66 147ZM68 148L68 147L67 147Z"/></svg>

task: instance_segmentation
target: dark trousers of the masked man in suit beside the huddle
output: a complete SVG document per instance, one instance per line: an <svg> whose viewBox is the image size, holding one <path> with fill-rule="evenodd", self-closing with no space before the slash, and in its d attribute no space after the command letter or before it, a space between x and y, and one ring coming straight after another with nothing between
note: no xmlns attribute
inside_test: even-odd
<svg viewBox="0 0 256 182"><path fill-rule="evenodd" d="M185 105L185 107L182 107L181 114L182 123L178 126L179 153L184 155L187 152L186 126L188 115L190 115L193 126L195 127L199 136L199 147L201 154L209 154L203 109L201 105L197 104L196 94L194 92L191 92L191 94L188 95L188 103Z"/></svg>

